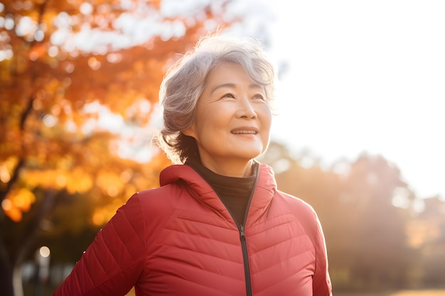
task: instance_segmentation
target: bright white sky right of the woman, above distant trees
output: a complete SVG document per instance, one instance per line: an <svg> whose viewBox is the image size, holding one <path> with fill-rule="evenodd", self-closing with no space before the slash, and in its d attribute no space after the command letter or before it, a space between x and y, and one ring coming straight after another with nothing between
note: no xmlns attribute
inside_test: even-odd
<svg viewBox="0 0 445 296"><path fill-rule="evenodd" d="M273 3L290 65L272 139L327 164L383 155L417 196L445 197L445 1Z"/></svg>

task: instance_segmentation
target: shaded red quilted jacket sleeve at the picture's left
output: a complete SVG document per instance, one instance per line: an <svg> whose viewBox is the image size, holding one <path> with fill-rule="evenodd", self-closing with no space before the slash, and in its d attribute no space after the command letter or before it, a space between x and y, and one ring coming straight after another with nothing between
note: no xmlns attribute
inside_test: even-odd
<svg viewBox="0 0 445 296"><path fill-rule="evenodd" d="M53 293L125 295L144 268L144 213L137 194L117 210Z"/></svg>

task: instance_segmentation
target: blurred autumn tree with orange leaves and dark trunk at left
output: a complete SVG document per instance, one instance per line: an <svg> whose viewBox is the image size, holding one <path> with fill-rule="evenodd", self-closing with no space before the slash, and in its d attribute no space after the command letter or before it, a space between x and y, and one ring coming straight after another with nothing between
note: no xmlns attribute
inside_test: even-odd
<svg viewBox="0 0 445 296"><path fill-rule="evenodd" d="M150 145L163 74L200 35L237 21L230 2L1 1L2 295L21 295L41 231L101 225L157 184L168 164Z"/></svg>

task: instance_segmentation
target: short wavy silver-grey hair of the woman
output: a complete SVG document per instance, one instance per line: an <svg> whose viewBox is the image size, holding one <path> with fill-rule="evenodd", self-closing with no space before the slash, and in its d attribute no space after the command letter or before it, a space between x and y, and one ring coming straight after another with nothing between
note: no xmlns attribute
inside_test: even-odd
<svg viewBox="0 0 445 296"><path fill-rule="evenodd" d="M194 50L168 69L159 91L163 127L154 140L173 163L199 158L195 139L183 131L195 121L196 104L210 71L222 62L241 65L254 82L264 87L267 102L272 106L277 71L264 53L262 44L251 37L203 36Z"/></svg>

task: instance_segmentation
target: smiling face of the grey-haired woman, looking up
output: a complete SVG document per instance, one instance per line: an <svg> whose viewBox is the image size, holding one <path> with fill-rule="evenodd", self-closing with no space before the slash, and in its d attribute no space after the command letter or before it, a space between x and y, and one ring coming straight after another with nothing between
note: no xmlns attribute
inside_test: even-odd
<svg viewBox="0 0 445 296"><path fill-rule="evenodd" d="M266 150L272 111L264 87L242 66L225 62L212 70L198 99L193 126L201 162L221 175L248 175L250 160Z"/></svg>

